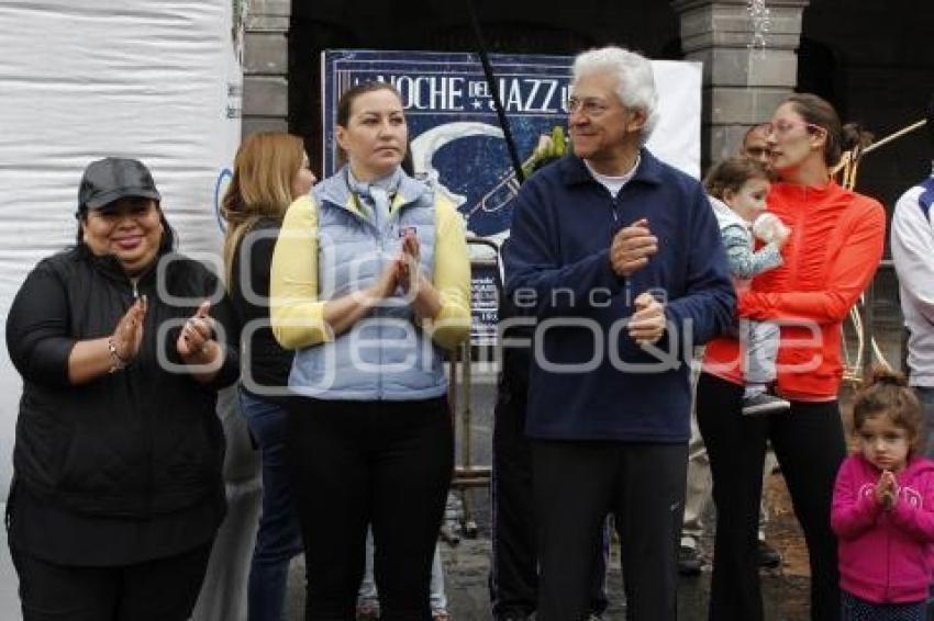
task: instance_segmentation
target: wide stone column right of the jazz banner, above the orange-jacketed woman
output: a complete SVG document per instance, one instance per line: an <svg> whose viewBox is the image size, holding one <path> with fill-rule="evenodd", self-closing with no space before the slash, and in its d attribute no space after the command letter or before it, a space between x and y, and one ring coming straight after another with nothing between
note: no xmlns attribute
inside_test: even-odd
<svg viewBox="0 0 934 621"><path fill-rule="evenodd" d="M798 79L801 15L810 0L766 0L765 46L752 47L747 0L671 0L686 60L703 63L701 166L736 153L746 129L768 121Z"/></svg>

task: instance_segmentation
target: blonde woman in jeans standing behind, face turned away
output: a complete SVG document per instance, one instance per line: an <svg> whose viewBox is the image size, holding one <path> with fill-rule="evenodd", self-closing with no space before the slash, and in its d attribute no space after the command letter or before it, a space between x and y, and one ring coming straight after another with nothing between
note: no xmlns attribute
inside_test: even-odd
<svg viewBox="0 0 934 621"><path fill-rule="evenodd" d="M242 330L241 411L260 451L263 507L249 567L247 618L282 621L289 562L301 531L286 471L286 395L292 352L269 327L269 269L286 210L314 183L301 138L264 132L247 136L234 159L222 213L227 221L224 267Z"/></svg>

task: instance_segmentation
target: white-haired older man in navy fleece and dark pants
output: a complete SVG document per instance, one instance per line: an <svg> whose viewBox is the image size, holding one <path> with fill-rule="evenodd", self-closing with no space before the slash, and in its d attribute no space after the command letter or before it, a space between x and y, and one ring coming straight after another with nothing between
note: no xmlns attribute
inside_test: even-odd
<svg viewBox="0 0 934 621"><path fill-rule="evenodd" d="M643 145L652 66L579 55L574 153L516 197L507 294L537 318L526 433L540 522L540 621L586 618L608 513L629 619L677 616L676 538L690 436L691 347L730 326L735 296L700 183Z"/></svg>

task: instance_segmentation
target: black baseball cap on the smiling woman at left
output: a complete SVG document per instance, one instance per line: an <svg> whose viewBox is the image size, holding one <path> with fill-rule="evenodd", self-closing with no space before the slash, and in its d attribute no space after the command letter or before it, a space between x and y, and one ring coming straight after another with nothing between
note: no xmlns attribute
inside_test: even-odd
<svg viewBox="0 0 934 621"><path fill-rule="evenodd" d="M78 211L97 210L126 196L162 201L156 182L145 165L136 159L108 157L85 169L78 189Z"/></svg>

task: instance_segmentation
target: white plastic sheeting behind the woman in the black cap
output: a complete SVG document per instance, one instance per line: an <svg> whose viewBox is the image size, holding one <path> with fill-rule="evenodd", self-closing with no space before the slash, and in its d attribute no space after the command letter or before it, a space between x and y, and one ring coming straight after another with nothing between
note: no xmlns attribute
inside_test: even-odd
<svg viewBox="0 0 934 621"><path fill-rule="evenodd" d="M85 166L133 157L153 171L182 252L219 264L215 215L240 140L245 0L0 2L0 320L32 267L75 239ZM11 476L21 392L0 346L0 498ZM245 618L245 563L256 517L256 464L231 394L219 414L232 528L219 540L198 619ZM5 545L0 562L8 562ZM215 554L216 555L216 554ZM236 557L233 557L236 555ZM219 569L223 573L219 574ZM15 614L0 568L0 610ZM207 591L208 589L205 589ZM241 612L242 611L242 612Z"/></svg>

